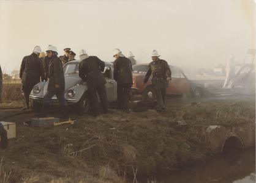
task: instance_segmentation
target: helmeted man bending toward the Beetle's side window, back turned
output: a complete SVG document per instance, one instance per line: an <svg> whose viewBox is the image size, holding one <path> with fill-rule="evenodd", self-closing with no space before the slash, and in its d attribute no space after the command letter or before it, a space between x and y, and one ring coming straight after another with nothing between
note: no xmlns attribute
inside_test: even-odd
<svg viewBox="0 0 256 183"><path fill-rule="evenodd" d="M79 76L88 85L93 116L97 117L97 115L100 114L97 93L100 98L103 113L111 113L108 109L108 98L105 88L107 82L102 74L105 68L105 62L96 56L88 56L85 49L81 49L79 57L81 59L81 62L79 63Z"/></svg>

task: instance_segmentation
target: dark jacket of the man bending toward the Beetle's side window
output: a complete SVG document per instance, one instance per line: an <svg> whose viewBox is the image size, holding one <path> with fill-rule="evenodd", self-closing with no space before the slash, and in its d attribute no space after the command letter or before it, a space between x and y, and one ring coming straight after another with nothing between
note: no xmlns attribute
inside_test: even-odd
<svg viewBox="0 0 256 183"><path fill-rule="evenodd" d="M89 90L94 90L98 85L107 83L102 72L105 62L96 56L89 56L79 63L79 76L88 85Z"/></svg>

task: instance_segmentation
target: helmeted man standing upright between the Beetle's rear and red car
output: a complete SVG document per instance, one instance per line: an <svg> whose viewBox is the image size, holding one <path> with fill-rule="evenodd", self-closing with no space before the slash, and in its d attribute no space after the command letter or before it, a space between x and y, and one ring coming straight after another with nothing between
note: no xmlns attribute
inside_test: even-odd
<svg viewBox="0 0 256 183"><path fill-rule="evenodd" d="M119 49L114 49L114 79L118 82L118 109L129 112L129 93L132 87L132 63Z"/></svg>

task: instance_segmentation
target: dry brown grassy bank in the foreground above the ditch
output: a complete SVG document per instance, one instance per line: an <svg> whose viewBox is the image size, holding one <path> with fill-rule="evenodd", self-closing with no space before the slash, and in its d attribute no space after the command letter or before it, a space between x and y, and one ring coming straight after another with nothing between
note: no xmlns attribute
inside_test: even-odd
<svg viewBox="0 0 256 183"><path fill-rule="evenodd" d="M1 104L8 105L17 107L17 103ZM207 126L255 121L255 98L166 108L164 113L115 111L96 118L71 113L71 120L77 121L68 130L69 124L23 125L35 112L4 118L1 121L16 123L17 137L9 140L7 149L0 150L0 182L120 183L134 174L164 173L212 156ZM48 117L59 113L60 109L52 109ZM0 110L0 118L6 115L6 110ZM187 125L178 125L180 120ZM5 174L7 181L3 181Z"/></svg>

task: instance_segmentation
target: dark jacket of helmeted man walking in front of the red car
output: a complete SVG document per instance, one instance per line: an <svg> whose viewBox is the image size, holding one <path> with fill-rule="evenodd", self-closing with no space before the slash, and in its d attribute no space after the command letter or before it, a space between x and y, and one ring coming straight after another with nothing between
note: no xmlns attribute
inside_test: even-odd
<svg viewBox="0 0 256 183"><path fill-rule="evenodd" d="M148 82L151 73L152 77L152 86L156 90L163 90L168 88L167 77L171 79L171 70L168 63L165 60L158 59L156 62L149 63L149 69L146 73L145 79L143 82Z"/></svg>

